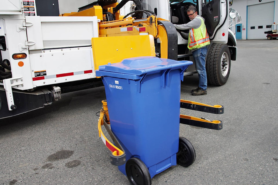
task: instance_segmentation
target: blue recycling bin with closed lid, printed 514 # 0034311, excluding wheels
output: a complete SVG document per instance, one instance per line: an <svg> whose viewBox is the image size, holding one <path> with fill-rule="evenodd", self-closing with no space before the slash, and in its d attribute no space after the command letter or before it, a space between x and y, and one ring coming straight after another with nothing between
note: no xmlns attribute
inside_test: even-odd
<svg viewBox="0 0 278 185"><path fill-rule="evenodd" d="M191 61L128 58L99 66L111 130L126 153L138 158L151 178L176 165L180 126L180 80ZM126 174L125 165L118 166Z"/></svg>

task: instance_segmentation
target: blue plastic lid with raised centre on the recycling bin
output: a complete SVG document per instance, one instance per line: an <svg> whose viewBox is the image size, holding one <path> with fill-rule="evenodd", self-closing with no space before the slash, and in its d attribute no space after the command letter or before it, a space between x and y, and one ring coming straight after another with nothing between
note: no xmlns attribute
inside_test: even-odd
<svg viewBox="0 0 278 185"><path fill-rule="evenodd" d="M151 56L127 58L118 63L108 63L107 65L99 66L98 74L101 71L130 74L130 75L144 75L155 71L162 71L172 68L186 69L193 64L191 61L177 61L166 58L158 58ZM100 72L100 73L99 73Z"/></svg>

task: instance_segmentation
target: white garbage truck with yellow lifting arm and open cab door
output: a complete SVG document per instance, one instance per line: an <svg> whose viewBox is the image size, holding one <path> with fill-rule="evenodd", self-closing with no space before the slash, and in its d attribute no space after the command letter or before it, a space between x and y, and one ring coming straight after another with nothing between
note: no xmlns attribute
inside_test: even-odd
<svg viewBox="0 0 278 185"><path fill-rule="evenodd" d="M67 1L67 6L74 1ZM208 82L224 85L237 51L235 35L228 29L231 3L97 0L76 12L38 16L33 0L2 1L0 119L49 106L62 93L102 86L95 70L109 62L139 56L192 60L188 40L173 26L189 22L189 5L205 18L211 40ZM194 73L191 65L184 75Z"/></svg>

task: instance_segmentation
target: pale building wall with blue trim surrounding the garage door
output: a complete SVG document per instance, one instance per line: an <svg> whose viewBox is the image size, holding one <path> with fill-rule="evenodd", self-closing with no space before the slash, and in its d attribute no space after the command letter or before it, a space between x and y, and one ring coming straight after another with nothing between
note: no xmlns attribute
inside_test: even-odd
<svg viewBox="0 0 278 185"><path fill-rule="evenodd" d="M261 2L259 2L259 0L233 0L233 5L230 6L230 9L235 9L237 10L237 12L239 13L239 15L241 16L242 19L242 39L246 40L246 35L248 34L247 30L248 30L248 17L247 17L247 8L250 5L258 5L261 3L268 3L268 2L273 2L275 4L274 7L274 21L275 23L278 23L278 0L261 0ZM267 14L267 12L258 12L258 14ZM236 19L236 22L237 19ZM235 33L235 27L232 28L232 31ZM261 33L262 35L265 36L266 38L266 34L264 34L264 32ZM248 38L247 38L248 39Z"/></svg>

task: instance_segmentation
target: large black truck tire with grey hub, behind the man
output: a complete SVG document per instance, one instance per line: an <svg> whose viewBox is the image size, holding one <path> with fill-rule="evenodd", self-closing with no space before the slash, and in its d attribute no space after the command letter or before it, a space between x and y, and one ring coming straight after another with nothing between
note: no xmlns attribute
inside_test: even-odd
<svg viewBox="0 0 278 185"><path fill-rule="evenodd" d="M231 54L227 44L212 43L206 57L208 83L222 86L226 84L231 69Z"/></svg>

